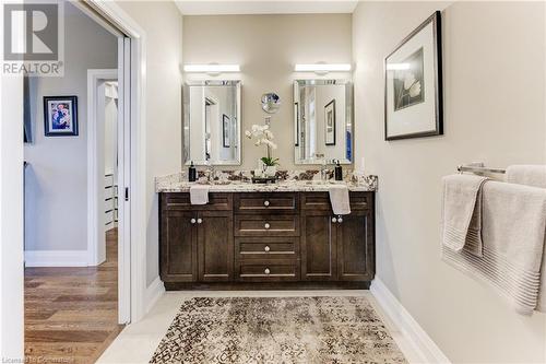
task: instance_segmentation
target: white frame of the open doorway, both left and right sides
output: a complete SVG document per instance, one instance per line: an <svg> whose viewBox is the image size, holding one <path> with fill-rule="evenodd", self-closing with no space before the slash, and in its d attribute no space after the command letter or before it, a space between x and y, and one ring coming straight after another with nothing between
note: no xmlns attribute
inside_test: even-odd
<svg viewBox="0 0 546 364"><path fill-rule="evenodd" d="M115 24L131 40L131 175L129 198L131 214L130 247L130 313L131 321L145 314L146 292L146 193L145 193L145 69L146 35L142 27L114 1L86 0L74 2L80 8L93 9L103 19ZM1 11L0 11L1 12ZM95 19L100 16L94 15ZM102 23L103 24L103 23ZM3 30L0 30L3 36ZM17 38L22 42L23 34ZM0 356L24 359L23 305L23 78L0 77L2 111L0 122ZM15 121L15 127L5 120ZM17 128L17 124L20 127Z"/></svg>

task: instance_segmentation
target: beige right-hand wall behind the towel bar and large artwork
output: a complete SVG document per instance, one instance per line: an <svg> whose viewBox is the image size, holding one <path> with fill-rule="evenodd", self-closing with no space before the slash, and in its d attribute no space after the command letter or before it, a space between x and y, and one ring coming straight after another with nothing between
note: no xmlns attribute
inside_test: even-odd
<svg viewBox="0 0 546 364"><path fill-rule="evenodd" d="M443 9L443 137L385 142L383 58ZM454 363L546 362L546 316L515 314L440 260L458 164L545 163L544 3L365 2L353 17L356 161L379 175L378 277Z"/></svg>

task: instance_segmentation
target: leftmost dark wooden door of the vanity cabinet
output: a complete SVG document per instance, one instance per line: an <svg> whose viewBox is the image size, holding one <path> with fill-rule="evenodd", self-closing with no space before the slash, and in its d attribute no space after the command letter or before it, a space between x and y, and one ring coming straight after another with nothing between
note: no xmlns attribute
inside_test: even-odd
<svg viewBox="0 0 546 364"><path fill-rule="evenodd" d="M162 211L161 272L165 282L194 282L197 271L197 213Z"/></svg>

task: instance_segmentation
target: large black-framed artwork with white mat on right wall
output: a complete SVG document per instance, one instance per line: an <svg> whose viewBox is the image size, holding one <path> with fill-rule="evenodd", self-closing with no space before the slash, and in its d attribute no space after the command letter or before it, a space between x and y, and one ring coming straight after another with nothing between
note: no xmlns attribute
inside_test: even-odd
<svg viewBox="0 0 546 364"><path fill-rule="evenodd" d="M441 49L437 11L384 59L385 140L443 133Z"/></svg>

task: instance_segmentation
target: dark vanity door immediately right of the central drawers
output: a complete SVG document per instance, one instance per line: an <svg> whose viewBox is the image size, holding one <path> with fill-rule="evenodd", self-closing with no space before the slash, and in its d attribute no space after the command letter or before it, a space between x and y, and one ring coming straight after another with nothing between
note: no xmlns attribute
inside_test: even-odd
<svg viewBox="0 0 546 364"><path fill-rule="evenodd" d="M301 218L301 279L336 279L336 224L330 211L305 211Z"/></svg>

